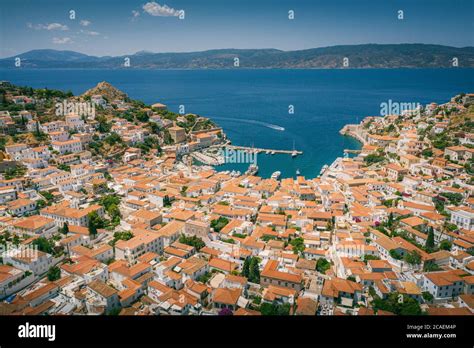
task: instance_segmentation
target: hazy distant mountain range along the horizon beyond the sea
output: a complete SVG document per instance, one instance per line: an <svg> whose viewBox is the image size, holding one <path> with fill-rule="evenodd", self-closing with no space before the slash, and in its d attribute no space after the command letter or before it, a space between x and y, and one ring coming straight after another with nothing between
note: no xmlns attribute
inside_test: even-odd
<svg viewBox="0 0 474 348"><path fill-rule="evenodd" d="M225 69L235 68L449 68L454 58L459 67L474 67L474 47L425 44L345 45L298 51L277 49L219 49L202 52L153 53L139 51L129 56L94 57L73 51L33 50L0 59L0 67L15 68L15 58L23 68L125 68L127 69Z"/></svg>

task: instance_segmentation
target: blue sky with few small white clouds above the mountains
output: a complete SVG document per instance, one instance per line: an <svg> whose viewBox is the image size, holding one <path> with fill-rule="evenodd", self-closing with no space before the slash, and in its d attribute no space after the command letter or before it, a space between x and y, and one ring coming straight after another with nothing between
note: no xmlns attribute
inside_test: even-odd
<svg viewBox="0 0 474 348"><path fill-rule="evenodd" d="M1 0L0 57L44 48L117 56L364 43L465 47L474 46L473 18L474 0Z"/></svg>

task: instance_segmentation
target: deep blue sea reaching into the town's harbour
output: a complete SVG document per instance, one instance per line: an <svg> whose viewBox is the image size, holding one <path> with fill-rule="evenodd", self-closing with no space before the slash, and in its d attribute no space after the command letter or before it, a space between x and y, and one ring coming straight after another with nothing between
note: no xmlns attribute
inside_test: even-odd
<svg viewBox="0 0 474 348"><path fill-rule="evenodd" d="M304 152L258 156L259 175L308 178L360 144L338 131L380 114L380 104L444 103L474 92L474 69L347 70L0 70L0 80L80 94L107 81L131 98L195 113L224 128L233 144ZM293 108L293 113L289 110ZM245 171L248 164L219 170Z"/></svg>

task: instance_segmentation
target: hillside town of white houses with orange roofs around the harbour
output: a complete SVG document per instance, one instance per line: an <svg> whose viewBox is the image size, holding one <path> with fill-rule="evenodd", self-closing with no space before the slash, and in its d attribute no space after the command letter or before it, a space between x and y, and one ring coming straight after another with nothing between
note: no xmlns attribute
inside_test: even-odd
<svg viewBox="0 0 474 348"><path fill-rule="evenodd" d="M474 313L474 94L281 179L199 163L222 128L107 82L0 102L2 315Z"/></svg>

